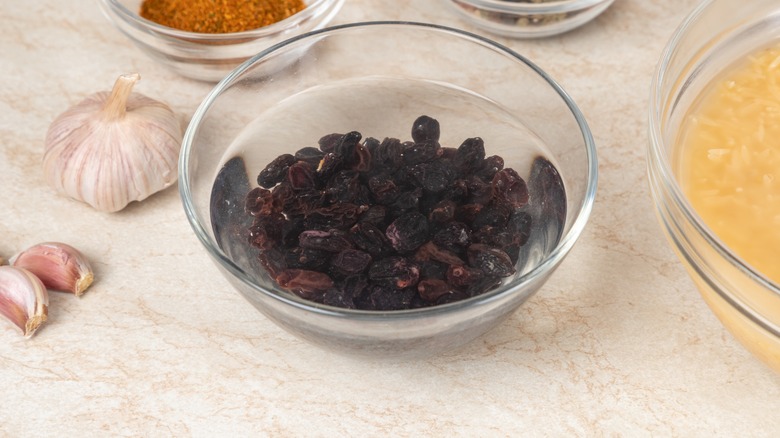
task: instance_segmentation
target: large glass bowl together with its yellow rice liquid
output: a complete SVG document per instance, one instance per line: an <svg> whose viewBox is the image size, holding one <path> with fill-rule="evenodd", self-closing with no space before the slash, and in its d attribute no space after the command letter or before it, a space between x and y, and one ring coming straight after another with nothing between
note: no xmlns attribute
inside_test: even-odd
<svg viewBox="0 0 780 438"><path fill-rule="evenodd" d="M780 370L780 4L700 3L652 83L656 213L705 302ZM714 334L713 334L714 335Z"/></svg>

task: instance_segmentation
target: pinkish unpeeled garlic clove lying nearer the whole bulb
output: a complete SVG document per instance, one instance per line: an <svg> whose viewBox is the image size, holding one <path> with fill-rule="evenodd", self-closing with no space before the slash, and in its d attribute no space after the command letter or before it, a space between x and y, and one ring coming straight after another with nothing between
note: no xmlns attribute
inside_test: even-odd
<svg viewBox="0 0 780 438"><path fill-rule="evenodd" d="M95 276L92 266L76 248L61 242L33 245L10 260L11 266L35 274L49 289L81 296Z"/></svg>

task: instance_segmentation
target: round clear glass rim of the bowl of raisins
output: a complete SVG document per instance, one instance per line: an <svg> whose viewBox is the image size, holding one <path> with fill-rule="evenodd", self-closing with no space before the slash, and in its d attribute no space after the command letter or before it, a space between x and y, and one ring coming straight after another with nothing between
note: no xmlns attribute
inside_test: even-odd
<svg viewBox="0 0 780 438"><path fill-rule="evenodd" d="M205 230L203 224L200 223L198 219L198 215L195 211L195 207L192 203L188 169L190 165L190 151L191 151L194 136L197 131L197 125L200 122L200 120L203 119L205 114L208 112L209 108L212 106L215 99L217 99L227 87L229 87L234 81L236 81L255 62L262 60L264 57L268 56L269 54L272 54L279 50L283 50L286 46L294 44L295 42L302 39L307 39L307 38L314 39L322 34L349 31L350 29L353 28L363 28L363 27L419 28L424 30L450 34L457 38L463 38L475 42L479 45L487 46L491 50L502 52L505 55L515 58L517 61L525 64L527 67L531 68L534 72L536 72L536 74L538 74L542 79L544 79L548 83L548 85L550 85L550 87L561 97L563 103L565 103L569 111L571 111L572 116L574 117L575 121L577 122L577 125L580 128L580 133L582 134L583 142L585 143L585 152L587 156L586 164L587 164L588 180L586 181L584 196L581 201L581 204L579 205L579 208L577 210L571 210L572 213L574 214L574 221L572 222L572 225L568 230L568 232L561 237L560 241L558 242L558 245L537 266L535 266L529 272L523 274L521 277L518 277L518 279L516 279L514 282L510 284L501 285L489 292L471 298L467 298L465 300L448 303L448 304L424 307L419 309L394 310L394 311L344 309L344 308L315 303L313 301L308 301L303 298L294 296L293 294L283 295L272 289L267 289L257 284L256 282L252 281L249 278L249 276L247 276L240 267L238 267L235 263L233 263L233 261L230 260L230 258L227 257L222 252L222 250L219 249L219 247L215 244L215 242L208 237L209 236L208 232ZM370 321L412 319L412 318L419 318L423 316L428 317L428 316L437 315L441 313L454 313L457 312L458 310L463 310L466 308L469 309L476 308L476 307L489 304L490 302L495 301L506 294L517 292L519 290L518 286L521 284L533 283L535 281L543 279L545 275L551 273L557 267L557 265L563 260L566 254L568 254L568 252L574 246L577 239L582 234L582 231L584 230L588 222L590 213L593 209L593 204L596 197L596 189L598 185L598 158L596 152L596 144L593 139L593 135L590 131L590 128L587 124L587 121L585 119L585 116L582 114L582 112L574 103L573 99L569 96L569 94L566 93L566 91L564 91L563 88L552 77L550 77L545 71L543 71L540 67L538 67L536 64L534 64L524 56L486 37L471 32L467 32L464 30L448 27L448 26L437 25L432 23L414 22L414 21L363 21L363 22L354 22L354 23L326 27L323 29L310 31L307 33L303 33L291 37L285 41L279 42L271 47L268 47L267 49L259 52L257 55L251 57L250 59L248 59L241 65L239 65L227 76L225 76L216 86L214 86L214 88L208 93L208 95L204 98L202 103L196 109L184 133L182 148L179 157L178 170L179 170L179 183L178 183L179 195L182 200L184 211L187 216L187 220L190 223L190 226L195 231L195 235L200 240L201 244L206 248L207 252L211 255L211 257L222 268L229 271L232 276L237 278L243 284L247 285L256 293L265 295L271 299L285 303L295 308L299 308L301 310L311 311L323 316L370 320Z"/></svg>

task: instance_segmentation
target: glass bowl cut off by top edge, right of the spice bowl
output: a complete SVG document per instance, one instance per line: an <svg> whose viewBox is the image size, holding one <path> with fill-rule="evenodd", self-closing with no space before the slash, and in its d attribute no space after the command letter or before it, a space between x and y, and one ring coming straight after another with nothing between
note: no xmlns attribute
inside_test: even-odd
<svg viewBox="0 0 780 438"><path fill-rule="evenodd" d="M615 0L444 0L466 21L510 38L568 32L604 12Z"/></svg>

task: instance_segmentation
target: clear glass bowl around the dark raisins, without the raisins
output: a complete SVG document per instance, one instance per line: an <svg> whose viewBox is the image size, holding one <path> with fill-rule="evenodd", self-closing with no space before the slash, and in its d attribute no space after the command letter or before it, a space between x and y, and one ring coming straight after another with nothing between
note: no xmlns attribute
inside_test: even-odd
<svg viewBox="0 0 780 438"><path fill-rule="evenodd" d="M286 61L291 53L297 62ZM535 206L533 220L545 225L534 228L522 247L517 274L463 301L411 310L350 310L280 289L246 243L244 199L258 172L278 155L317 146L318 139L334 132L409 139L422 114L440 122L442 145L457 147L480 136L487 155L502 155L506 167L524 178L543 150L562 176L566 213L551 211L554 204L545 204L546 198L529 202ZM583 115L531 61L446 27L355 23L275 45L217 84L186 130L179 191L209 256L266 317L334 351L415 358L480 336L542 286L588 220L596 161Z"/></svg>

